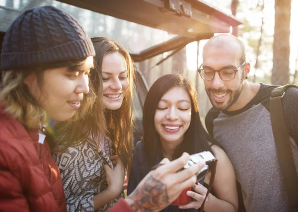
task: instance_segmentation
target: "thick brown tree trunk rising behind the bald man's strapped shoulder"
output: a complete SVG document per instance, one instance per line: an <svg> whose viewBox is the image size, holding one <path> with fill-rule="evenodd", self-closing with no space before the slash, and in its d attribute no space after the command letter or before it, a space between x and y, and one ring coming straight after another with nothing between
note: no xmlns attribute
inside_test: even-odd
<svg viewBox="0 0 298 212"><path fill-rule="evenodd" d="M291 0L275 0L272 84L285 85L290 80L290 19Z"/></svg>

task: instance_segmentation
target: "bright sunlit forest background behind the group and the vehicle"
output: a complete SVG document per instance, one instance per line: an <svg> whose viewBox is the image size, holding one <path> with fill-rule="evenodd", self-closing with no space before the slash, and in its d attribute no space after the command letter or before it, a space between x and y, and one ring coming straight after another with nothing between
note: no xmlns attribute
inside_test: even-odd
<svg viewBox="0 0 298 212"><path fill-rule="evenodd" d="M243 23L233 29L233 34L246 45L247 62L251 64L249 81L298 84L298 0L204 1L235 15ZM0 0L0 6L15 8L15 11L42 5L58 6L73 14L83 24L90 37L103 36L116 40L130 53L139 53L176 36L55 0ZM4 11L3 17L16 17L17 14L7 10ZM0 28L8 27L5 26L5 18L3 21ZM149 87L158 77L171 72L182 73L190 78L198 90L202 118L211 107L203 80L196 71L202 63L202 49L205 43L206 40L190 43L159 65L156 64L171 52L136 63L138 71L144 75ZM142 117L142 110L135 111L135 114Z"/></svg>

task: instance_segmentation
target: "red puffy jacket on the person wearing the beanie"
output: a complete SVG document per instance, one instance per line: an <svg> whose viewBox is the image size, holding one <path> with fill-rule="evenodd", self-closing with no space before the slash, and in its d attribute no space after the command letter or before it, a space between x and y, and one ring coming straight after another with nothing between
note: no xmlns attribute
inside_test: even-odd
<svg viewBox="0 0 298 212"><path fill-rule="evenodd" d="M41 157L40 157L41 152ZM38 130L25 130L0 107L0 211L66 212L60 172Z"/></svg>

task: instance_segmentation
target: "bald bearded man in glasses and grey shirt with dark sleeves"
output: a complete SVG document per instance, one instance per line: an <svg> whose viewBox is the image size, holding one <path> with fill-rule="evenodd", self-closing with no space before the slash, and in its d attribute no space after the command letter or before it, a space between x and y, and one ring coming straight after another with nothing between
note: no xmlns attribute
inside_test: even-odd
<svg viewBox="0 0 298 212"><path fill-rule="evenodd" d="M213 105L207 130L235 168L246 211L289 212L270 121L269 99L277 86L247 81L245 46L230 34L206 43L198 71ZM287 90L283 108L298 170L298 89Z"/></svg>

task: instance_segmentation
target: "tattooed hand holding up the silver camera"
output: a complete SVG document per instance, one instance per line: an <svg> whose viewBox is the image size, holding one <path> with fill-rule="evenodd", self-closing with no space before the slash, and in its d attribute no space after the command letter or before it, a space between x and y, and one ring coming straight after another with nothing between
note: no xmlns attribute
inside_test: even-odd
<svg viewBox="0 0 298 212"><path fill-rule="evenodd" d="M195 184L196 173L205 165L202 162L183 170L188 159L187 153L171 162L163 159L160 163L164 164L155 166L156 170L150 171L125 201L135 211L157 212L170 205L183 189Z"/></svg>

